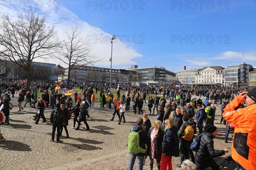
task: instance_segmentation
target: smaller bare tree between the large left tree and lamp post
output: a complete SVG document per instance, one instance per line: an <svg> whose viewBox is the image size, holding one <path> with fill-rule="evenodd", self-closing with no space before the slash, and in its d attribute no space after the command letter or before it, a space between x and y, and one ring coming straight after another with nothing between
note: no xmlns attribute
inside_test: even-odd
<svg viewBox="0 0 256 170"><path fill-rule="evenodd" d="M71 70L93 65L97 61L90 56L90 45L80 36L77 27L75 29L72 28L71 34L68 32L66 34L67 38L64 40L64 45L61 49L62 55L56 57L68 65L67 86L69 87Z"/></svg>

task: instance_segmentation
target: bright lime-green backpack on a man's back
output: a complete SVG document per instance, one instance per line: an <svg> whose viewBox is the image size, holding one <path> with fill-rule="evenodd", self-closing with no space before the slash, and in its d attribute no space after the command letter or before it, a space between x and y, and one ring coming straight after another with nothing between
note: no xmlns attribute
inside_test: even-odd
<svg viewBox="0 0 256 170"><path fill-rule="evenodd" d="M128 150L129 153L138 154L138 153L146 153L146 149L140 147L140 135L139 133L142 130L135 132L131 129L131 132L128 136Z"/></svg>

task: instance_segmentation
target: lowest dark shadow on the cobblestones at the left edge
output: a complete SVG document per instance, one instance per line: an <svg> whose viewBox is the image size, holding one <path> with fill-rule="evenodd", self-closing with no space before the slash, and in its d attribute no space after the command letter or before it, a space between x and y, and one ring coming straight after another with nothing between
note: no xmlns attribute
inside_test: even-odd
<svg viewBox="0 0 256 170"><path fill-rule="evenodd" d="M32 151L29 145L10 140L1 142L0 148L4 150Z"/></svg>

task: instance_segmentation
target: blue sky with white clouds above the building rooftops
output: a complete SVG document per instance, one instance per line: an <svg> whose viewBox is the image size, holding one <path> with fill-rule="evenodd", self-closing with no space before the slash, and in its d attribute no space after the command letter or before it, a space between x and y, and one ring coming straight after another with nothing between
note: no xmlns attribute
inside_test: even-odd
<svg viewBox="0 0 256 170"><path fill-rule="evenodd" d="M113 68L227 67L240 64L243 53L246 63L256 65L255 0L56 2L44 10L49 24L58 32L78 26L102 61L96 66L110 67L111 44L100 35L119 35ZM52 10L54 5L58 10Z"/></svg>

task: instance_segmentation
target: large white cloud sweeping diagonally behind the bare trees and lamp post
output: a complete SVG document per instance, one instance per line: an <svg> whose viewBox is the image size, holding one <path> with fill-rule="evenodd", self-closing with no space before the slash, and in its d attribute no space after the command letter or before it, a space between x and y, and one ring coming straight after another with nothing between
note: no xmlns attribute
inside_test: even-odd
<svg viewBox="0 0 256 170"><path fill-rule="evenodd" d="M53 4L53 1L51 2ZM75 28L77 26L81 36L87 39L87 42L90 43L92 56L96 57L96 59L100 59L101 61L96 65L101 65L108 68L110 67L109 59L111 57L111 43L109 39L112 37L111 34L102 31L100 28L90 26L86 21L83 21L78 16L76 16L76 14L74 14L72 11L68 10L64 6L61 6L61 4L57 6L58 10L52 10L53 6L49 8L49 1L40 1L40 3L44 3L44 5L43 8L38 11L38 13L43 12L47 14L46 23L48 26L55 25L55 31L57 31L60 40L63 40L66 37L66 31L70 32L71 28ZM16 9L14 6L10 8L6 4L3 5L0 6L1 13L9 13L10 16L16 17L17 11L22 12L22 9L19 8L19 4L17 4ZM27 4L27 7L29 7L29 4ZM132 45L133 44L131 43L121 42L117 37L117 39L113 42L113 66L123 68L123 65L136 64L136 62L132 61L132 59L142 57L142 55L139 54L137 50L132 47ZM45 61L42 61L42 59L35 61L56 63L65 67L63 63L60 63L51 57Z"/></svg>

